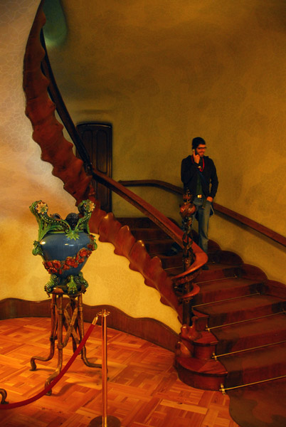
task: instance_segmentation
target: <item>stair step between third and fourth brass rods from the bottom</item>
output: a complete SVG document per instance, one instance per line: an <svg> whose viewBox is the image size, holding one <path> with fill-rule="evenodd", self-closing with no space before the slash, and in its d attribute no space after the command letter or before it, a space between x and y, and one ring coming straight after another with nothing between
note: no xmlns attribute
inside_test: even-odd
<svg viewBox="0 0 286 427"><path fill-rule="evenodd" d="M223 302L200 305L196 312L207 315L208 327L226 325L242 320L255 319L283 311L283 300L269 295L250 295Z"/></svg>

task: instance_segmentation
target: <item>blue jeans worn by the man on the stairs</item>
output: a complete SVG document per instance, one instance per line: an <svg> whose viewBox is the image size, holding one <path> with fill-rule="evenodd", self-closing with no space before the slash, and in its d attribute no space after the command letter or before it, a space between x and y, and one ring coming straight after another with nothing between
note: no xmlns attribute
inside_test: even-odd
<svg viewBox="0 0 286 427"><path fill-rule="evenodd" d="M211 214L211 201L205 198L194 198L196 206L196 219L198 220L198 246L203 252L208 253L208 220Z"/></svg>

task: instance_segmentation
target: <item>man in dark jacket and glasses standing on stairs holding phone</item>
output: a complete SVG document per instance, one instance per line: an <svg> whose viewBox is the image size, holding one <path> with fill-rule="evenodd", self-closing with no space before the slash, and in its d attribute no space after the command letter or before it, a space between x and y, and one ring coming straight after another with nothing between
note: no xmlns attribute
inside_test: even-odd
<svg viewBox="0 0 286 427"><path fill-rule="evenodd" d="M192 141L193 154L181 162L181 181L189 189L196 206L198 246L208 253L208 220L213 214L212 201L218 189L218 176L213 160L205 156L206 142L201 137ZM208 270L207 265L203 265Z"/></svg>

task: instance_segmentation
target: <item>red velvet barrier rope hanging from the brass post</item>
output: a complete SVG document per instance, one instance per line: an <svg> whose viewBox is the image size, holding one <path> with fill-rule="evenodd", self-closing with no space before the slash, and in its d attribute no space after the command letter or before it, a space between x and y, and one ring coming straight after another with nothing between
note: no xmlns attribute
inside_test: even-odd
<svg viewBox="0 0 286 427"><path fill-rule="evenodd" d="M53 389L53 386L55 386L55 384L57 384L57 382L61 379L61 377L65 374L65 372L68 371L70 365L73 364L75 357L78 356L80 350L85 345L85 342L87 342L88 337L90 336L94 327L95 327L95 325L93 325L93 323L92 323L92 325L90 325L90 327L88 328L88 331L86 332L85 336L81 340L78 348L73 353L73 356L70 357L70 360L65 365L65 367L60 371L60 374L58 374L58 376L56 376L55 379L53 379L53 381L51 381L51 384L49 384L46 387L46 389L43 389L43 391L36 394L36 396L30 397L30 399L26 399L24 401L17 402L16 404L7 404L6 402L4 402L3 404L0 405L0 411L1 411L1 409L13 409L13 408L18 408L19 406L25 406L25 405L31 404L33 401L40 399L40 397L44 396L45 394L48 393L48 391Z"/></svg>

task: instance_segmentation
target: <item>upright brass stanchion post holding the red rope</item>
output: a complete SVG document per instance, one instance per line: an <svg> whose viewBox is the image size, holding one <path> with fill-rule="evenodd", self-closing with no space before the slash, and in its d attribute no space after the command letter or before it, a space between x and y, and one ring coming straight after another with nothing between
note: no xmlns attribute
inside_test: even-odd
<svg viewBox="0 0 286 427"><path fill-rule="evenodd" d="M120 420L116 416L107 416L107 332L106 317L110 315L105 308L98 313L102 317L102 416L90 421L90 427L120 427Z"/></svg>

